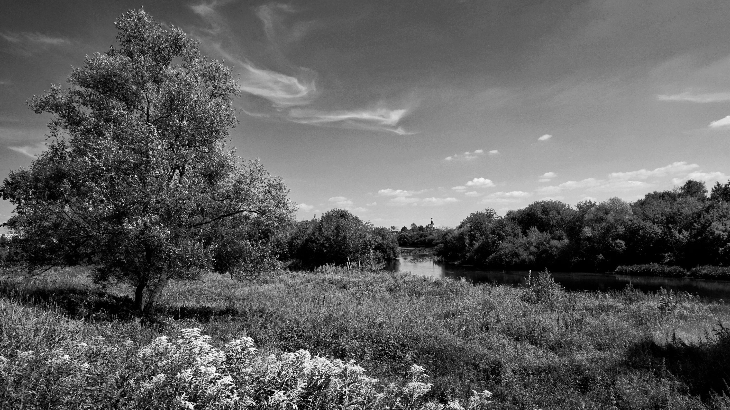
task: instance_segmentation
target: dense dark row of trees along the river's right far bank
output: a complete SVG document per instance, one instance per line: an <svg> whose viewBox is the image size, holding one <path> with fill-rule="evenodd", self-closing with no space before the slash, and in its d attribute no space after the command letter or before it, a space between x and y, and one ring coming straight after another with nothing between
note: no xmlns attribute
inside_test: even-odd
<svg viewBox="0 0 730 410"><path fill-rule="evenodd" d="M434 241L445 261L502 269L607 271L618 265L691 269L730 264L730 181L687 181L636 202L618 197L575 208L533 202L500 217L472 213Z"/></svg>

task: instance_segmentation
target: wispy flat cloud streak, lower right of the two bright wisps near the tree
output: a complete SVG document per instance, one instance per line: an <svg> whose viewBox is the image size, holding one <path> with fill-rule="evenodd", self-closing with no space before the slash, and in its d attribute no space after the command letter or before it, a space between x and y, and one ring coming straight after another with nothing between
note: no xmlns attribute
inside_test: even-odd
<svg viewBox="0 0 730 410"><path fill-rule="evenodd" d="M398 122L409 113L410 109L364 109L352 111L318 111L291 109L288 119L300 124L337 126L357 130L387 131L398 135L413 133L396 127Z"/></svg>

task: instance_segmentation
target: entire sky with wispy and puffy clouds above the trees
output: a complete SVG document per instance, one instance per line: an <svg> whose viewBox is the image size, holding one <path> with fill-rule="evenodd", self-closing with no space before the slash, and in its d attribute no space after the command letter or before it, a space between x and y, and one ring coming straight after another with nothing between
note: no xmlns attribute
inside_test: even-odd
<svg viewBox="0 0 730 410"><path fill-rule="evenodd" d="M15 1L0 14L0 178L65 84L144 7L238 75L238 154L299 219L455 226L543 199L730 178L730 1ZM12 205L0 201L0 222Z"/></svg>

